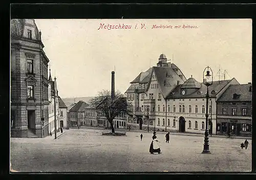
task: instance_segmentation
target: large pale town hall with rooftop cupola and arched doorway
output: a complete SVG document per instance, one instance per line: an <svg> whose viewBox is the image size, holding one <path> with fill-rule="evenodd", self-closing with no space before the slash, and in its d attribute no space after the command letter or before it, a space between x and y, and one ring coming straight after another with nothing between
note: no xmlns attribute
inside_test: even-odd
<svg viewBox="0 0 256 180"><path fill-rule="evenodd" d="M209 124L216 133L216 100L236 79L214 81L209 86ZM157 66L140 73L125 92L131 113L131 129L204 133L207 87L192 76L186 79L173 63L161 54Z"/></svg>

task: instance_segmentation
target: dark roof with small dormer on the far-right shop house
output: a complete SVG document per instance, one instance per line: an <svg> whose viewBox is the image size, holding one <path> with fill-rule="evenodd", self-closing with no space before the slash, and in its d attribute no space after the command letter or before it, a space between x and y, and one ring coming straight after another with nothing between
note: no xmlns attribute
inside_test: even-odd
<svg viewBox="0 0 256 180"><path fill-rule="evenodd" d="M249 92L251 84L235 84L230 85L218 101L251 101L252 92ZM239 95L233 99L233 94Z"/></svg>

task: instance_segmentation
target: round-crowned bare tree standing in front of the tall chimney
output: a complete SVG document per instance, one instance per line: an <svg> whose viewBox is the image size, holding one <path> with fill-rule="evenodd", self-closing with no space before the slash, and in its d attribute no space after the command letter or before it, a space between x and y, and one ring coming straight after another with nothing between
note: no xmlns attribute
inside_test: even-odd
<svg viewBox="0 0 256 180"><path fill-rule="evenodd" d="M120 113L126 114L127 109L126 97L121 93L115 92L114 98L111 99L111 92L102 90L98 95L90 100L90 104L95 107L97 112L102 112L104 117L109 121L112 133L115 132L113 120Z"/></svg>

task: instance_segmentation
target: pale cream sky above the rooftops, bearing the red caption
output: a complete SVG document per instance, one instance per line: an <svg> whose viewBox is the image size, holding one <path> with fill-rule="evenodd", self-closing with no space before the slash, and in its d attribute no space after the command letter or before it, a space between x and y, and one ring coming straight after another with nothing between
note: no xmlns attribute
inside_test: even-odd
<svg viewBox="0 0 256 180"><path fill-rule="evenodd" d="M165 54L188 79L252 81L251 19L35 19L61 98L124 93ZM119 26L120 25L120 26ZM176 26L176 28L175 28ZM192 27L192 28L191 28ZM114 28L114 29L112 29ZM115 29L117 28L117 29ZM127 29L125 29L127 28ZM129 29L130 28L130 29ZM221 73L218 73L221 69Z"/></svg>

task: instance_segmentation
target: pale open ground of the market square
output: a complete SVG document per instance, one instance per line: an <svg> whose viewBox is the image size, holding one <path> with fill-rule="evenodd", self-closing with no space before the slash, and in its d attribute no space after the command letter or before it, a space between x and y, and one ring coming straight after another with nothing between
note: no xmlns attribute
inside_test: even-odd
<svg viewBox="0 0 256 180"><path fill-rule="evenodd" d="M102 136L102 129L69 129L54 140L11 139L12 168L21 172L245 172L251 170L251 140L210 137L211 154L202 154L203 136L157 132L162 154L150 154L152 132Z"/></svg>

